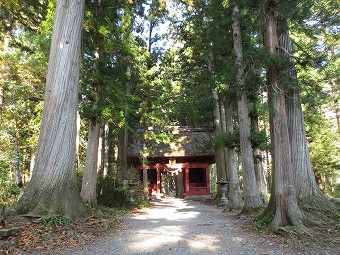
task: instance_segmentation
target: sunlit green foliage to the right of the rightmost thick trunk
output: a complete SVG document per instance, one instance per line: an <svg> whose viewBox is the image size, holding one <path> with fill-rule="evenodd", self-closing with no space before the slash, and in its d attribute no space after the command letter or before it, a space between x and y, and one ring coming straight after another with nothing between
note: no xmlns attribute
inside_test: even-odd
<svg viewBox="0 0 340 255"><path fill-rule="evenodd" d="M304 16L302 9L294 10L290 26L311 160L324 191L339 196L340 136L335 117L340 95L338 3L322 0L304 5L308 6L302 8Z"/></svg>

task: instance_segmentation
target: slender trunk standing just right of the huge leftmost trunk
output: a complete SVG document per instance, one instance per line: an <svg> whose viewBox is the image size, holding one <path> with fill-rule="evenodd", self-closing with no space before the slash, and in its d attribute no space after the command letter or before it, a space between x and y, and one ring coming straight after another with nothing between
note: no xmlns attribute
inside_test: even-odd
<svg viewBox="0 0 340 255"><path fill-rule="evenodd" d="M91 119L86 148L86 159L83 181L81 186L81 198L84 203L96 207L97 203L97 176L98 176L98 149L99 149L100 125L97 119Z"/></svg>

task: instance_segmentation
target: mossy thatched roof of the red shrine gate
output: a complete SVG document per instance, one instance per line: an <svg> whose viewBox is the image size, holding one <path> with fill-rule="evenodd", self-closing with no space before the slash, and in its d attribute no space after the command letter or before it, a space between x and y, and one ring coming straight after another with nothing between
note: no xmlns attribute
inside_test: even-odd
<svg viewBox="0 0 340 255"><path fill-rule="evenodd" d="M187 157L213 156L210 135L202 128L166 127L162 130L148 130L160 135L163 139L150 139L147 147L150 157ZM155 136L159 137L159 136ZM164 139L165 138L165 139ZM143 130L137 130L130 139L128 156L139 157L143 148Z"/></svg>

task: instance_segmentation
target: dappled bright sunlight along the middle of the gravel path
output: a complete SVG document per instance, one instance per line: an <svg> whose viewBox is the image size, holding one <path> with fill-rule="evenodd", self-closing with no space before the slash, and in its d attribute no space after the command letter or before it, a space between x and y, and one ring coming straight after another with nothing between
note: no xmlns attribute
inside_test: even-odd
<svg viewBox="0 0 340 255"><path fill-rule="evenodd" d="M131 235L129 249L136 254L147 254L168 250L171 252L181 249L195 252L220 249L220 239L223 237L214 232L212 235L191 232L190 222L195 222L201 212L188 202L181 199L165 198L153 202L152 208L139 211L133 216L134 220L146 221L148 226L136 229ZM212 224L197 222L203 228ZM202 229L203 229L202 228ZM186 248L183 248L186 247Z"/></svg>

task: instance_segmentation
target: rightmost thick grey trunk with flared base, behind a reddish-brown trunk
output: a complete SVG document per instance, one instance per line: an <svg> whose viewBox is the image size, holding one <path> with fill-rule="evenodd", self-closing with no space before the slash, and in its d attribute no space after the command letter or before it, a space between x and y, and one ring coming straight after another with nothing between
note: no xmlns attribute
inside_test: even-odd
<svg viewBox="0 0 340 255"><path fill-rule="evenodd" d="M282 74L288 80L286 110L296 196L309 205L330 208L332 204L317 186L312 170L289 32L282 30L279 38L279 54L289 58L289 66Z"/></svg>

